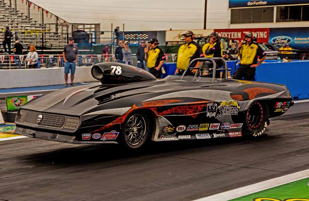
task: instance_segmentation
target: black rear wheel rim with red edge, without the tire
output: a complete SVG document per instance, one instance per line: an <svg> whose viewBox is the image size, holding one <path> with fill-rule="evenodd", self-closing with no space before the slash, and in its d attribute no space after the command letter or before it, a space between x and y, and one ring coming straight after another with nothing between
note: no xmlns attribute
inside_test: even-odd
<svg viewBox="0 0 309 201"><path fill-rule="evenodd" d="M258 128L264 117L263 107L259 102L254 102L250 105L247 111L247 124L250 128L256 129Z"/></svg>

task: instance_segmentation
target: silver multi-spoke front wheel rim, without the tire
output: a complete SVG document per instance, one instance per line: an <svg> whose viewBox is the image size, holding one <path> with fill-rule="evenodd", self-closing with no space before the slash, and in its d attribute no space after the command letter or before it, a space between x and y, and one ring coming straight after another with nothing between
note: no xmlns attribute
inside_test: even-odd
<svg viewBox="0 0 309 201"><path fill-rule="evenodd" d="M146 134L146 122L142 115L135 114L130 117L125 126L125 139L131 145L142 141Z"/></svg>

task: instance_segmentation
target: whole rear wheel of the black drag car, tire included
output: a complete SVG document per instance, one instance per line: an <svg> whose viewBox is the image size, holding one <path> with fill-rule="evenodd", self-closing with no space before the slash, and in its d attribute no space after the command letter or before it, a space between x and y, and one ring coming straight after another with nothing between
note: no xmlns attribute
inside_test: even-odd
<svg viewBox="0 0 309 201"><path fill-rule="evenodd" d="M268 106L258 101L253 102L245 115L243 132L257 137L263 135L269 122Z"/></svg>

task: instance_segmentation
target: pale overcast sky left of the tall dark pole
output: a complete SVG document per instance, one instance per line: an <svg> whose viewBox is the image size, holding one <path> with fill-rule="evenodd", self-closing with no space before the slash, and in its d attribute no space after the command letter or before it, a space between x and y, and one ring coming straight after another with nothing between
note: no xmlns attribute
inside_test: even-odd
<svg viewBox="0 0 309 201"><path fill-rule="evenodd" d="M205 0L32 0L69 23L125 23L125 31L203 29Z"/></svg>

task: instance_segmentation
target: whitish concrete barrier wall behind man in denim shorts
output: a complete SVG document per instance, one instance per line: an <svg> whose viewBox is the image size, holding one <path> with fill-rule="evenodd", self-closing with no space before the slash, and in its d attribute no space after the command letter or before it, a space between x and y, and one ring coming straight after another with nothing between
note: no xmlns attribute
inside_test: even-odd
<svg viewBox="0 0 309 201"><path fill-rule="evenodd" d="M76 67L74 82L95 81L91 76L91 66ZM59 84L65 84L64 68L0 70L0 89Z"/></svg>

